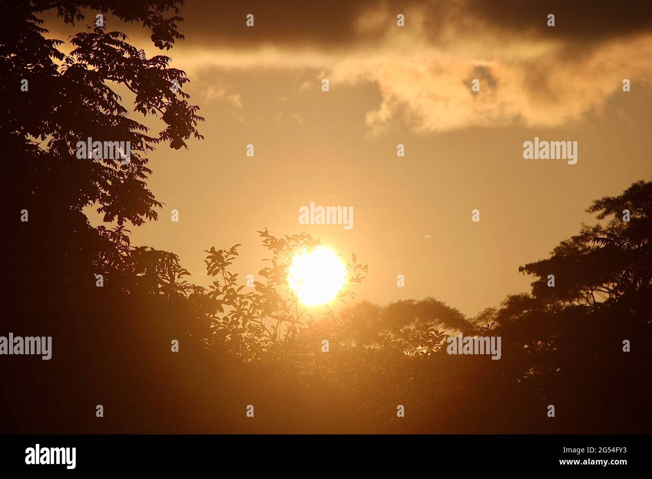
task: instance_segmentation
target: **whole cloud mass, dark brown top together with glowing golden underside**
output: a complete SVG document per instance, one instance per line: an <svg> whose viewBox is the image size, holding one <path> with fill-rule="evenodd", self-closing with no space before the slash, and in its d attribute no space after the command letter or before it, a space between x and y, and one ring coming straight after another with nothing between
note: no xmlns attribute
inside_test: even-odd
<svg viewBox="0 0 652 479"><path fill-rule="evenodd" d="M353 5L355 4L355 5ZM185 5L186 41L173 65L192 77L211 68L270 74L293 70L310 92L319 78L334 85L374 83L381 100L366 114L379 133L396 122L416 132L473 126L559 126L599 113L623 94L624 78L649 89L651 3L589 4L552 0L340 2ZM340 8L341 7L341 8ZM247 13L255 26L245 26ZM396 26L396 13L406 18ZM548 13L556 27L546 26ZM471 91L477 78L481 91ZM209 83L208 79L202 80ZM314 91L319 91L318 87ZM242 108L216 83L205 101Z"/></svg>

